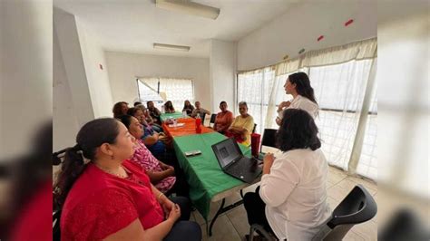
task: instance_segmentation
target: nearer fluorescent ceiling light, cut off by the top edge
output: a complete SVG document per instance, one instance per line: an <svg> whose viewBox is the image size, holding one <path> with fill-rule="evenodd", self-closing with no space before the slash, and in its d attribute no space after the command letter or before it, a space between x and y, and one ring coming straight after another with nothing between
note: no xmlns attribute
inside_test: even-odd
<svg viewBox="0 0 430 241"><path fill-rule="evenodd" d="M184 14L197 15L216 19L220 14L220 8L209 5L200 5L191 1L155 0L155 6L162 9L177 11Z"/></svg>

